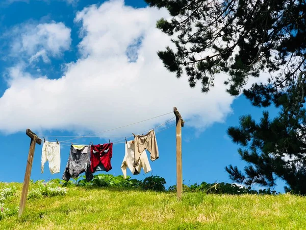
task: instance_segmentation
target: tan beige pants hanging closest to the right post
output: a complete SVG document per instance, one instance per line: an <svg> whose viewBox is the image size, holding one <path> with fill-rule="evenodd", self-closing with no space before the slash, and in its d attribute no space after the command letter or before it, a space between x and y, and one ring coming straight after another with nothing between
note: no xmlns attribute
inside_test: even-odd
<svg viewBox="0 0 306 230"><path fill-rule="evenodd" d="M135 162L134 162L134 167L137 167L137 165L139 164L141 153L145 149L150 152L150 159L152 161L159 158L157 141L156 141L156 136L155 136L154 129L150 130L145 135L136 135L135 136Z"/></svg>

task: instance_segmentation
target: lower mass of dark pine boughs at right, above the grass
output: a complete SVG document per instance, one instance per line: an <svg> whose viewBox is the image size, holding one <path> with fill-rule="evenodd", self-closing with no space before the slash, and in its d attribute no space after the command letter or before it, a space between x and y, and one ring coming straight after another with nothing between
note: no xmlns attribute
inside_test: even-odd
<svg viewBox="0 0 306 230"><path fill-rule="evenodd" d="M302 74L300 74L301 78ZM250 115L240 118L238 127L230 127L228 135L238 149L241 159L248 163L242 171L237 166L225 167L233 181L274 187L281 178L289 187L285 191L306 194L306 86L297 84L279 98L280 112L269 119L268 111L256 123ZM298 99L301 102L296 103Z"/></svg>

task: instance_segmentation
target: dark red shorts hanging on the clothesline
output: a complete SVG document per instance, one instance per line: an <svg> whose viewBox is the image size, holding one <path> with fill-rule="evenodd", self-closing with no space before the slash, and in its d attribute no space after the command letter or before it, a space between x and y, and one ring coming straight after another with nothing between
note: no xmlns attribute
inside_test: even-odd
<svg viewBox="0 0 306 230"><path fill-rule="evenodd" d="M90 172L95 172L99 164L108 172L112 169L111 158L113 156L113 143L92 145L90 148Z"/></svg>

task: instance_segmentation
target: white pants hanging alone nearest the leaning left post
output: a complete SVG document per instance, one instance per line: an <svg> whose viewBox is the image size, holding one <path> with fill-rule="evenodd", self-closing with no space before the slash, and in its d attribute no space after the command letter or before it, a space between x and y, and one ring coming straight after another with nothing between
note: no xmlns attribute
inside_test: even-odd
<svg viewBox="0 0 306 230"><path fill-rule="evenodd" d="M61 166L61 151L60 143L57 142L44 142L42 145L41 153L41 173L43 173L43 166L49 162L49 169L52 174L60 172Z"/></svg>

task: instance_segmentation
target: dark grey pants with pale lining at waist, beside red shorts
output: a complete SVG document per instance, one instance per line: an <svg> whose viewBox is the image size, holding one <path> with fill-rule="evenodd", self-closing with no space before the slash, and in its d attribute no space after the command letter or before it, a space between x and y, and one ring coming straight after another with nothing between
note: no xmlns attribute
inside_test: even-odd
<svg viewBox="0 0 306 230"><path fill-rule="evenodd" d="M63 180L68 181L71 178L77 178L81 173L85 172L86 180L93 178L90 172L90 146L87 145L71 145L68 162Z"/></svg>

